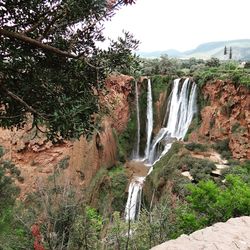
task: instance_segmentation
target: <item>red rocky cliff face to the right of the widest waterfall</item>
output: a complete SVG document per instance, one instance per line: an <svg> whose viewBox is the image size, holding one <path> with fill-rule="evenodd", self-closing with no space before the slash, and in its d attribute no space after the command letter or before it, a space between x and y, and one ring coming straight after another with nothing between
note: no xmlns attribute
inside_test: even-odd
<svg viewBox="0 0 250 250"><path fill-rule="evenodd" d="M201 110L201 126L189 139L229 140L235 159L250 159L250 91L230 81L207 83L202 92L207 101Z"/></svg>

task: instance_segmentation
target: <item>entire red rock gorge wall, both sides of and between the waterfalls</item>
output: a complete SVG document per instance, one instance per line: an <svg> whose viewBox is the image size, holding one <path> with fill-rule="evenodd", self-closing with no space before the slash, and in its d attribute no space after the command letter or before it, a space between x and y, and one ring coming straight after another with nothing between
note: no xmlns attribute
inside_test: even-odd
<svg viewBox="0 0 250 250"><path fill-rule="evenodd" d="M89 141L82 137L75 142L52 145L41 132L36 136L36 131L29 125L18 131L0 130L4 157L20 168L24 178L17 183L21 187L21 197L34 191L39 180L45 180L55 169L63 169L67 179L80 188L87 186L101 167L116 165L118 152L115 134L126 129L131 116L130 107L134 102L132 81L132 77L125 75L112 75L106 80L106 89L99 93L101 113L98 119L101 120L101 129ZM166 110L166 97L169 94L166 84L162 83L164 88L158 88L154 81L152 84L156 116L154 134L161 127ZM143 85L142 79L140 91ZM235 159L250 159L249 89L217 80L205 84L200 94L204 102L200 110L201 120L189 135L189 141L207 144L228 139ZM145 110L141 112L143 117ZM142 128L145 127L143 121L141 123ZM145 128L141 133L143 130Z"/></svg>

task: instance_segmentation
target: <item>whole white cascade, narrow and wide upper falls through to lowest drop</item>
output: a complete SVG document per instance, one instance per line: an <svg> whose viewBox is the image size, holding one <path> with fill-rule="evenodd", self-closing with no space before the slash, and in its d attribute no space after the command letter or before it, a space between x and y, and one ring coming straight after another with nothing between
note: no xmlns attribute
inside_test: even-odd
<svg viewBox="0 0 250 250"><path fill-rule="evenodd" d="M160 129L151 143L153 104L151 82L148 80L147 144L144 159L145 163L150 167L148 174L153 170L153 165L168 152L175 140L183 140L193 115L197 111L196 89L196 84L190 81L189 78L186 78L184 82L181 79L174 80L172 92L168 97L167 110L163 122L164 127ZM135 177L130 183L125 209L126 220L135 220L139 216L141 192L145 178Z"/></svg>

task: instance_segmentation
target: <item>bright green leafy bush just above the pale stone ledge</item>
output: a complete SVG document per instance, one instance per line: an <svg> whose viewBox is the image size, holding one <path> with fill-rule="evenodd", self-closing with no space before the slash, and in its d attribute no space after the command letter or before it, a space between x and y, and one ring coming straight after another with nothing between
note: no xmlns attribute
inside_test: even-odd
<svg viewBox="0 0 250 250"><path fill-rule="evenodd" d="M178 235L250 215L250 186L236 175L228 175L224 186L209 180L190 184L188 190L187 204L179 208Z"/></svg>

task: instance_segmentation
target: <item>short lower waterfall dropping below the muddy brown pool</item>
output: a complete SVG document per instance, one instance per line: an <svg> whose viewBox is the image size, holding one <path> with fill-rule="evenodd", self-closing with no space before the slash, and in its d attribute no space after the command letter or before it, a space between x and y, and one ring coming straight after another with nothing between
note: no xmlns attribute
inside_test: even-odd
<svg viewBox="0 0 250 250"><path fill-rule="evenodd" d="M145 177L136 177L130 182L128 199L125 208L125 219L135 220L139 216L141 208L141 191Z"/></svg>

